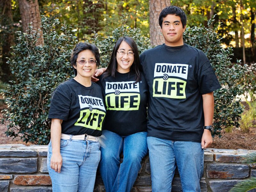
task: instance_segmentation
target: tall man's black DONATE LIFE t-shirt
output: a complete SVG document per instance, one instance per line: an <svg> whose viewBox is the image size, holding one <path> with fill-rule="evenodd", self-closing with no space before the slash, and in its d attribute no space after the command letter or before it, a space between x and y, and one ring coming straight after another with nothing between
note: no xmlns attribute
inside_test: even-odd
<svg viewBox="0 0 256 192"><path fill-rule="evenodd" d="M140 60L150 93L148 136L201 142L202 94L220 88L204 52L162 44L143 52Z"/></svg>

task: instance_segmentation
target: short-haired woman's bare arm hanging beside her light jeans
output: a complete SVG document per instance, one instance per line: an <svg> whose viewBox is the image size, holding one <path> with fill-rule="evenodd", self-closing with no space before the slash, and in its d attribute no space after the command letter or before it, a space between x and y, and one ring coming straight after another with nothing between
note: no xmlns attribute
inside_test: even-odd
<svg viewBox="0 0 256 192"><path fill-rule="evenodd" d="M51 140L52 140L52 158L51 168L60 173L62 157L60 155L60 136L61 136L61 119L52 119Z"/></svg>

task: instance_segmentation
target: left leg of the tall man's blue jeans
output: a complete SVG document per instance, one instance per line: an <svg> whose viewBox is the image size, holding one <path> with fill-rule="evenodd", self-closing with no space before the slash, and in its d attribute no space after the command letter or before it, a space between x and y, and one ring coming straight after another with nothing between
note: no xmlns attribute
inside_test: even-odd
<svg viewBox="0 0 256 192"><path fill-rule="evenodd" d="M170 192L176 164L173 141L148 137L152 192Z"/></svg>

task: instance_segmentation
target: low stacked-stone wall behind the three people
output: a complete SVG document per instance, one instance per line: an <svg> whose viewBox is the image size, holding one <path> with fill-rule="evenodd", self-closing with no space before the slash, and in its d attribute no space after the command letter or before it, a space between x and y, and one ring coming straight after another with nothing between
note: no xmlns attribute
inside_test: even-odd
<svg viewBox="0 0 256 192"><path fill-rule="evenodd" d="M256 164L239 163L240 156L251 150L206 149L204 152L204 176L201 191L227 192L238 181L256 177ZM51 178L46 166L47 146L23 144L0 145L0 191L50 192ZM132 191L151 191L148 156L141 162L142 168ZM95 192L105 191L99 173ZM182 191L178 172L172 182L172 191ZM252 190L256 191L256 190Z"/></svg>

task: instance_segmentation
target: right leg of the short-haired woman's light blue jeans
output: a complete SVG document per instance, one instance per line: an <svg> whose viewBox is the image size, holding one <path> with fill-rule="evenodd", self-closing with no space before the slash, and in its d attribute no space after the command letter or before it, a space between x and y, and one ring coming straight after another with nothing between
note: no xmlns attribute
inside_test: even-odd
<svg viewBox="0 0 256 192"><path fill-rule="evenodd" d="M87 141L84 161L79 166L78 192L93 192L98 164L100 162L100 144Z"/></svg>

